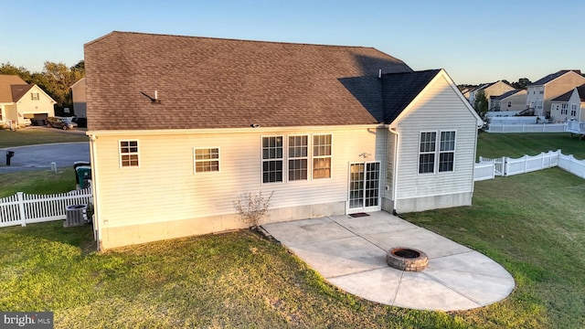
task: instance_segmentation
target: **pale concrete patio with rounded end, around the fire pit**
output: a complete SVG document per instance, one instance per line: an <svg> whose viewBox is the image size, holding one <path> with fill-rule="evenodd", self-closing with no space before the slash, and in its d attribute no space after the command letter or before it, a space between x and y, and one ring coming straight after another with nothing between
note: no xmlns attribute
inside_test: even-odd
<svg viewBox="0 0 585 329"><path fill-rule="evenodd" d="M385 211L262 228L326 281L373 302L420 310L469 310L501 301L515 287L512 276L494 260ZM396 247L426 253L427 268L389 267L387 251Z"/></svg>

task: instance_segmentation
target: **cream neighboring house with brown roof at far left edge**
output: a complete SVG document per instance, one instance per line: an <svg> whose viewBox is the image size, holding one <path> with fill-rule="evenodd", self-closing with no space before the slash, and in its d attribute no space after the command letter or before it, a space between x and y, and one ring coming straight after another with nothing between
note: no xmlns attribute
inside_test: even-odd
<svg viewBox="0 0 585 329"><path fill-rule="evenodd" d="M56 101L37 85L27 84L16 75L0 74L0 124L18 127L25 119L39 122L54 116Z"/></svg>

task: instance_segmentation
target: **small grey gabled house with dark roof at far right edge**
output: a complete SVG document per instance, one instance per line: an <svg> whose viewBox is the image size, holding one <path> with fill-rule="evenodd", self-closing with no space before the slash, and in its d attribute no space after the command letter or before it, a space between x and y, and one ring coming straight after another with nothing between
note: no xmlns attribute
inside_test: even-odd
<svg viewBox="0 0 585 329"><path fill-rule="evenodd" d="M585 84L550 101L553 122L585 121Z"/></svg>

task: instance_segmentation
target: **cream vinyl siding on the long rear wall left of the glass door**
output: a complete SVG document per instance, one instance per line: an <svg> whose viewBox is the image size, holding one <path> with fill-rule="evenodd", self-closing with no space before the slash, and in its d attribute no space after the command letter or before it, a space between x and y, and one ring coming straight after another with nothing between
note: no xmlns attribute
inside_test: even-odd
<svg viewBox="0 0 585 329"><path fill-rule="evenodd" d="M307 134L311 140L313 133L332 134L332 178L261 183L261 136L282 135L286 141L289 134ZM138 141L139 167L120 166L121 140ZM115 227L232 214L234 202L249 192L269 195L274 191L271 208L343 202L347 198L348 163L364 161L359 156L364 153L372 154L370 160L383 157L377 155L377 145L381 149L384 142L365 128L335 128L319 132L102 135L95 143L100 154L95 168L100 218L105 226ZM219 172L193 174L193 149L199 147L221 150Z"/></svg>

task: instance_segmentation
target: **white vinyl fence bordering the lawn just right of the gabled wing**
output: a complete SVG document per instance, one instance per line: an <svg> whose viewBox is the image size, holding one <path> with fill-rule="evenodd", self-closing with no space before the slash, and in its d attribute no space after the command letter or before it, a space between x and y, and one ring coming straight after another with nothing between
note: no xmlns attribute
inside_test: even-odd
<svg viewBox="0 0 585 329"><path fill-rule="evenodd" d="M534 156L524 155L518 159L512 159L507 156L490 159L480 156L479 164L475 164L474 181L494 178L494 176L490 177L488 174L489 165L493 166L494 176L525 174L558 166L573 175L585 178L585 160L577 160L573 155L562 154L560 150L548 151L548 153Z"/></svg>

